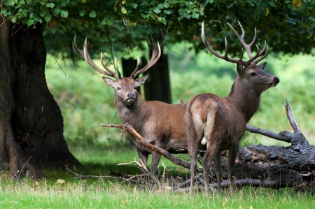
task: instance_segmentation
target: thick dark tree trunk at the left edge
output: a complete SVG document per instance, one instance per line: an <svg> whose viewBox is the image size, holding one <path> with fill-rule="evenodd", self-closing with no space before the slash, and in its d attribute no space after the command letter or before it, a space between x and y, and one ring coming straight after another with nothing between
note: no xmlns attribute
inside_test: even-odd
<svg viewBox="0 0 315 209"><path fill-rule="evenodd" d="M43 27L0 26L0 169L40 178L41 166L80 165L63 137L63 120L45 80Z"/></svg>

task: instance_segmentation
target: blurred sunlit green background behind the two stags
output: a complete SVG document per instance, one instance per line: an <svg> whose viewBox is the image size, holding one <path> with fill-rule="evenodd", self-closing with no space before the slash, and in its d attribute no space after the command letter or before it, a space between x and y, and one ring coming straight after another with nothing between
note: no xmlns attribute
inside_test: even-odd
<svg viewBox="0 0 315 209"><path fill-rule="evenodd" d="M165 50L169 59L172 103L189 101L196 94L211 92L228 96L237 75L236 64L211 55L207 49L196 53L190 43L171 45ZM77 61L77 71L70 59L55 59L48 55L45 75L48 87L62 110L64 137L68 145L132 146L119 129L100 124L120 124L113 103L114 91L102 74L85 61ZM248 124L269 131L293 131L286 117L285 103L291 103L293 116L309 143L315 145L315 59L311 55L275 55L264 59L265 71L280 78L276 87L262 93L260 108ZM100 64L100 59L94 59ZM118 62L121 69L121 62ZM149 70L149 71L152 71ZM127 75L128 76L128 75ZM158 89L156 89L158 91ZM249 144L289 145L272 138L246 131L241 146Z"/></svg>

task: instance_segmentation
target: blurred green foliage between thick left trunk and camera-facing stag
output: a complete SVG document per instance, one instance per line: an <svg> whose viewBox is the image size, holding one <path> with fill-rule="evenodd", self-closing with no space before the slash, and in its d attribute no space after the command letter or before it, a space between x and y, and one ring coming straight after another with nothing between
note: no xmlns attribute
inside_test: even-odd
<svg viewBox="0 0 315 209"><path fill-rule="evenodd" d="M100 127L101 123L120 124L113 89L105 85L101 74L95 74L86 62L78 62L79 70L74 71L71 62L58 62L58 66L52 57L47 60L48 87L62 110L67 143L85 147L123 143L118 129Z"/></svg>

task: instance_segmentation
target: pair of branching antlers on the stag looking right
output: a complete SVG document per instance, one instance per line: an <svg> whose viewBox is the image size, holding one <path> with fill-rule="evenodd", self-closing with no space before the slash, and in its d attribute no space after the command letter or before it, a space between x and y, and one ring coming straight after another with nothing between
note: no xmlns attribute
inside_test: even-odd
<svg viewBox="0 0 315 209"><path fill-rule="evenodd" d="M245 36L245 32L243 27L241 27L241 23L239 23L239 26L241 27L241 36L239 36L239 34L237 34L237 31L235 31L235 29L228 23L229 27L232 29L232 31L235 33L235 35L237 36L237 38L239 38L239 41L241 42L241 45L244 46L247 55L249 57L248 61L244 61L243 60L243 54L244 54L244 50L243 48L241 49L241 56L239 57L239 59L233 59L228 57L228 41L226 41L226 37L225 37L225 53L224 55L220 55L218 54L218 52L216 52L213 48L211 48L211 46L209 45L206 36L204 35L204 22L202 22L202 41L204 41L204 45L206 45L207 49L214 54L216 57L224 59L228 62L232 62L232 63L238 63L238 64L242 64L244 66L248 66L250 64L257 64L258 62L260 62L262 59L264 59L267 56L267 53L269 52L269 46L267 45L266 41L265 41L265 46L264 48L262 48L261 51L259 51L258 45L256 45L257 48L257 54L255 56L252 55L251 53L251 47L252 45L255 43L256 41L256 29L255 29L255 35L253 38L253 41L251 41L251 43L246 44L244 42L244 36ZM262 55L262 53L265 51L265 48L267 46L267 51L265 52L265 55L263 55L262 57L260 57ZM258 57L260 57L260 59L257 59ZM256 59L256 60L255 60Z"/></svg>

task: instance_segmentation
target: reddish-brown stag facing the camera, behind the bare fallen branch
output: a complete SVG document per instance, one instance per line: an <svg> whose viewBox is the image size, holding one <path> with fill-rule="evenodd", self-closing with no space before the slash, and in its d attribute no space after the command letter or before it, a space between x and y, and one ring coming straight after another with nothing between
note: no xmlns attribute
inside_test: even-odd
<svg viewBox="0 0 315 209"><path fill-rule="evenodd" d="M146 64L143 69L138 70L138 63L132 75L124 78L120 78L120 72L118 71L116 62L115 68L117 73L111 71L111 69L104 64L102 53L101 63L106 71L99 69L94 62L92 62L92 59L87 53L86 39L83 45L83 50L79 50L75 36L73 50L85 58L86 62L99 71L99 73L116 79L112 80L111 78L103 77L106 85L113 87L115 90L115 106L123 124L131 124L132 127L134 127L134 129L148 141L148 143L171 153L187 153L187 140L185 127L183 125L183 116L186 108L181 104L171 105L160 101L145 101L139 92L137 92L137 87L143 85L148 78L148 75L144 75L141 78L137 78L137 75L144 73L158 62L161 55L160 45L153 41L153 53L148 64ZM137 139L134 138L132 134L129 134L129 136L132 139L132 142L137 146L139 158L145 166L147 165L148 154L152 154L150 171L153 174L158 174L156 172L161 157L160 154L144 148L137 143ZM144 173L145 169L141 168L141 172Z"/></svg>

